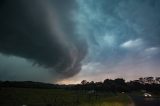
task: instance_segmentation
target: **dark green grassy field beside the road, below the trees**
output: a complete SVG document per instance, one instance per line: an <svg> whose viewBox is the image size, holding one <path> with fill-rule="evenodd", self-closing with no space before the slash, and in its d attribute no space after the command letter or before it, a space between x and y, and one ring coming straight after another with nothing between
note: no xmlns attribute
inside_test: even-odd
<svg viewBox="0 0 160 106"><path fill-rule="evenodd" d="M1 88L0 106L128 106L127 94L62 89Z"/></svg>

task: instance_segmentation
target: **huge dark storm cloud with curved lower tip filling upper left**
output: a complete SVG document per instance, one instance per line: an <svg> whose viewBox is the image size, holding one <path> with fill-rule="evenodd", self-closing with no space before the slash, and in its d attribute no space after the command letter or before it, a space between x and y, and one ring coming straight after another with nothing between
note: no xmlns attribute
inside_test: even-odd
<svg viewBox="0 0 160 106"><path fill-rule="evenodd" d="M65 77L78 73L87 47L72 31L71 0L63 5L60 1L1 2L0 52L53 68Z"/></svg>

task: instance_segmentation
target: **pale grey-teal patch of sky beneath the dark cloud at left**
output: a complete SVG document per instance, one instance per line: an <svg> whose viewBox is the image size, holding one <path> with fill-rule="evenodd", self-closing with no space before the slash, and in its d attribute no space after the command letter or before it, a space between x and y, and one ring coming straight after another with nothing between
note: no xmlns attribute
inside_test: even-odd
<svg viewBox="0 0 160 106"><path fill-rule="evenodd" d="M24 58L0 54L0 80L55 82L59 79L50 74L50 69L33 65Z"/></svg>

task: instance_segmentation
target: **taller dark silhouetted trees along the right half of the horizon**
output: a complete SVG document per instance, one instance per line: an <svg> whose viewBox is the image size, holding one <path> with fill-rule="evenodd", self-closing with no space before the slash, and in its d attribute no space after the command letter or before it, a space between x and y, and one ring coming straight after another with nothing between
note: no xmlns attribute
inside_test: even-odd
<svg viewBox="0 0 160 106"><path fill-rule="evenodd" d="M81 84L73 87L76 90L95 90L109 92L132 92L132 91L160 91L160 84L142 84L136 81L125 82L122 78L105 79L103 82L87 82L83 80Z"/></svg>

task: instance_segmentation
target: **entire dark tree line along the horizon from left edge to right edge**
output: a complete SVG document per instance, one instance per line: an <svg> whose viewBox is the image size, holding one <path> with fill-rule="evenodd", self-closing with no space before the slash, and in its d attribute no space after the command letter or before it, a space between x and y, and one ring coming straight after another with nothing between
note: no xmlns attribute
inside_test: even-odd
<svg viewBox="0 0 160 106"><path fill-rule="evenodd" d="M131 92L131 91L160 91L160 84L143 84L136 81L125 82L122 78L105 79L103 82L88 82L83 80L81 84L59 85L32 81L0 81L0 87L20 87L20 88L47 88L47 89L67 89L67 90L94 90L109 92Z"/></svg>

